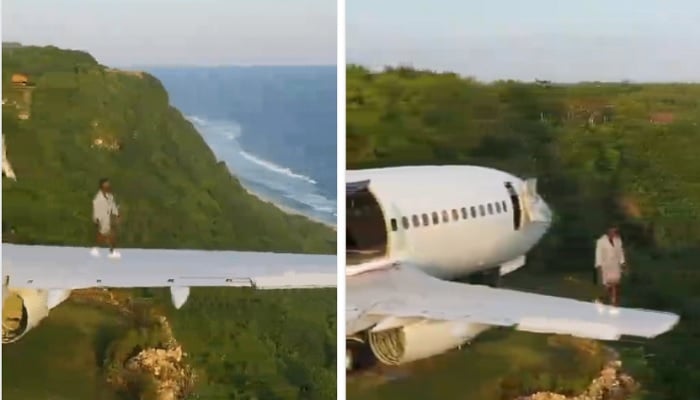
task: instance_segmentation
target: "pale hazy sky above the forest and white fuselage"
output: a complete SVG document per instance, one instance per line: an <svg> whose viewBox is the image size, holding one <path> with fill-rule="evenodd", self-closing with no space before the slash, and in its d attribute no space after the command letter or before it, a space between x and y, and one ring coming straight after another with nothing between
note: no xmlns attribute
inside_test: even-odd
<svg viewBox="0 0 700 400"><path fill-rule="evenodd" d="M697 0L347 0L347 61L482 80L700 81Z"/></svg>

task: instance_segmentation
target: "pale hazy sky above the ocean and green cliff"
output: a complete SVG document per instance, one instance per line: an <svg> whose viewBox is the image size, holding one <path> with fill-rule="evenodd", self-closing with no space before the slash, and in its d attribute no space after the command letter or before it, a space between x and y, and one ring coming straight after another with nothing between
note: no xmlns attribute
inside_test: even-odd
<svg viewBox="0 0 700 400"><path fill-rule="evenodd" d="M335 64L335 0L2 0L2 39L107 65Z"/></svg>

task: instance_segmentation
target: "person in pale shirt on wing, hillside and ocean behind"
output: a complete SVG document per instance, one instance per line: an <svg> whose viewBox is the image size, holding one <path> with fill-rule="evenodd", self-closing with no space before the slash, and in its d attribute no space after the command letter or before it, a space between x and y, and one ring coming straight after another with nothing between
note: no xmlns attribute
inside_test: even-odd
<svg viewBox="0 0 700 400"><path fill-rule="evenodd" d="M119 258L121 255L114 249L115 237L112 226L113 218L119 221L119 208L112 195L112 185L109 179L100 179L100 190L92 200L92 220L97 228L96 242L109 245L109 258ZM97 247L91 251L95 257L100 256Z"/></svg>

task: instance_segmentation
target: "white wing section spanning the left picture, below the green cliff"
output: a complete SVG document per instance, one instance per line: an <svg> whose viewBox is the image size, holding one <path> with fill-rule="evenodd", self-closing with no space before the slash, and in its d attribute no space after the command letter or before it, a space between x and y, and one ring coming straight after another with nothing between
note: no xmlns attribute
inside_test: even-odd
<svg viewBox="0 0 700 400"><path fill-rule="evenodd" d="M336 286L336 256L242 251L119 249L121 259L82 247L2 245L8 287Z"/></svg>

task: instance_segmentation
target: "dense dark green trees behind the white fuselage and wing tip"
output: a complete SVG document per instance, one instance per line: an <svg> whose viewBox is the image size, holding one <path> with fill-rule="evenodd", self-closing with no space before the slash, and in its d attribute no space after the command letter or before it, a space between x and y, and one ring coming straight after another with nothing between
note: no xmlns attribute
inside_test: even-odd
<svg viewBox="0 0 700 400"><path fill-rule="evenodd" d="M624 348L654 355L639 372L647 399L700 395L698 123L700 85L347 69L349 168L479 164L539 178L556 221L528 273L591 277L594 240L621 224L624 305L681 315L672 332Z"/></svg>

